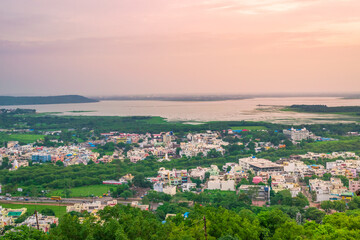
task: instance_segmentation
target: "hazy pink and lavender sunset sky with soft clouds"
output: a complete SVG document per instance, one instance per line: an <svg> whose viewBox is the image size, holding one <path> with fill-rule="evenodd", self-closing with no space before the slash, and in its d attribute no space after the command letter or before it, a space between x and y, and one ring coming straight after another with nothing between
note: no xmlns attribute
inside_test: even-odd
<svg viewBox="0 0 360 240"><path fill-rule="evenodd" d="M360 92L359 0L1 0L0 95Z"/></svg>

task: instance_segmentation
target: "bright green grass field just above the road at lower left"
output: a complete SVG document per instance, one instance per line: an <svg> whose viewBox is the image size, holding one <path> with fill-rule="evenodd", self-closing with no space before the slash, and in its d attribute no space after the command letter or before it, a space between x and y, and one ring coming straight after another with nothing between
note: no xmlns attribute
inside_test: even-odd
<svg viewBox="0 0 360 240"><path fill-rule="evenodd" d="M70 197L90 197L91 195L102 196L104 193L107 193L110 190L110 188L116 188L116 186L100 184L100 185L75 187L70 189L71 191ZM63 194L63 190L51 191L48 194L48 196L65 197L65 195Z"/></svg>

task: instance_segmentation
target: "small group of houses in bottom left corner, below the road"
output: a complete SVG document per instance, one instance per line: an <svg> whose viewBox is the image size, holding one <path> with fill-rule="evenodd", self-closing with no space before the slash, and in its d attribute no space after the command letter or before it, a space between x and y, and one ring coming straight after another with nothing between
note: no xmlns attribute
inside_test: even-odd
<svg viewBox="0 0 360 240"><path fill-rule="evenodd" d="M16 220L23 216L27 212L26 208L20 209L11 209L3 208L0 206L0 229L5 228L6 226L29 226L33 228L39 228L44 232L49 232L53 224L57 225L59 219L55 216L46 216L40 213L29 216L25 221L21 223L16 223Z"/></svg>

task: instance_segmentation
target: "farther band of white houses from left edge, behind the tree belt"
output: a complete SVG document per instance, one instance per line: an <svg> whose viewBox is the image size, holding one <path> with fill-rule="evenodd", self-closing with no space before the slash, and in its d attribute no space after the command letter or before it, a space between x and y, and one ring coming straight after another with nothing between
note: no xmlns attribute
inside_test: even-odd
<svg viewBox="0 0 360 240"><path fill-rule="evenodd" d="M228 130L235 137L240 130ZM248 131L246 129L241 131ZM267 130L261 130L267 131ZM46 135L59 135L61 131L44 132ZM307 129L285 129L283 133L292 141L301 141L303 139L317 137ZM12 170L19 167L28 166L29 160L33 163L57 162L61 161L65 166L74 164L87 164L90 160L95 163L109 163L114 159L130 159L131 162L138 162L146 159L148 156L155 156L159 161L170 161L174 156L207 156L210 151L216 151L220 154L225 153L224 146L229 145L222 139L221 133L217 131L206 131L205 133L189 133L182 142L178 141L173 132L161 132L159 134L135 134L109 132L101 133L101 139L91 142L74 144L61 147L34 147L33 144L20 146L18 142L8 142L6 148L0 148L0 162L2 157L8 157L13 164ZM97 146L113 142L115 144L132 144L130 149L116 149L112 155L100 156L93 149ZM274 145L270 142L261 142L260 139L253 141L255 152L263 150L285 148L284 144ZM243 144L239 142L238 144ZM245 149L247 149L245 143ZM304 158L316 158L321 156L304 156ZM325 156L328 157L328 156ZM332 156L330 156L332 157Z"/></svg>

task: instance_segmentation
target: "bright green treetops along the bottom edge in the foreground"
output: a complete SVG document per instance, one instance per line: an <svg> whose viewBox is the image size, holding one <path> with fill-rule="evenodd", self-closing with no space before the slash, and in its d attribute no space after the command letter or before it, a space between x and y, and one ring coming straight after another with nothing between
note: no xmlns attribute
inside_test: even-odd
<svg viewBox="0 0 360 240"><path fill-rule="evenodd" d="M130 206L106 207L100 219L85 214L66 214L59 225L45 234L28 227L18 227L0 239L359 239L360 211L326 215L321 223L297 222L279 209L262 208L255 213L222 207L195 205L187 214L179 213L166 220L154 213Z"/></svg>

